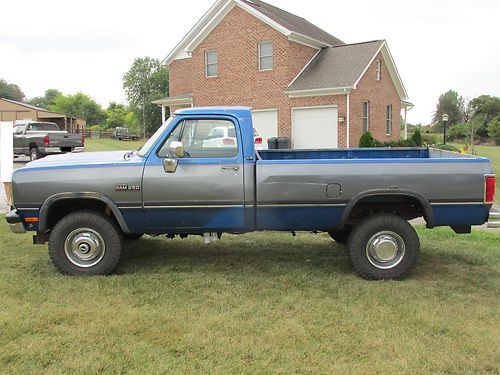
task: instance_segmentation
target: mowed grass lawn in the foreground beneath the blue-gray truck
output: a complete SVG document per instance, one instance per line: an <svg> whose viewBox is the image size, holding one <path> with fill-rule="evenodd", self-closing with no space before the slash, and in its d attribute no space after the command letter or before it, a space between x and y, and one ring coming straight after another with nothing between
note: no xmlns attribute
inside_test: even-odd
<svg viewBox="0 0 500 375"><path fill-rule="evenodd" d="M498 235L418 232L400 282L301 233L149 238L82 278L0 218L0 372L498 373Z"/></svg>

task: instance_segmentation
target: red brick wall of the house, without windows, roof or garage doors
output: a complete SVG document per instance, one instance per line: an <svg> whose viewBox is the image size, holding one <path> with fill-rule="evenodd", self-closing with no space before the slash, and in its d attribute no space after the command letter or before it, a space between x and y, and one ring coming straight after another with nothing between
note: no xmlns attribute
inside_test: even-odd
<svg viewBox="0 0 500 375"><path fill-rule="evenodd" d="M274 69L258 70L258 43L273 42ZM217 50L218 76L205 76L205 51ZM290 42L283 34L239 7L233 8L190 59L173 61L170 68L170 95L193 94L195 106L242 105L253 109L278 109L280 136L291 136L292 108L336 105L346 116L346 95L290 99L285 91L290 82L317 50ZM371 131L386 140L385 106L393 105L393 139L399 138L400 101L383 64L382 81L375 80L371 66L358 89L351 93L350 146L358 145L362 132L361 103L369 100ZM338 145L346 147L346 124L339 124Z"/></svg>

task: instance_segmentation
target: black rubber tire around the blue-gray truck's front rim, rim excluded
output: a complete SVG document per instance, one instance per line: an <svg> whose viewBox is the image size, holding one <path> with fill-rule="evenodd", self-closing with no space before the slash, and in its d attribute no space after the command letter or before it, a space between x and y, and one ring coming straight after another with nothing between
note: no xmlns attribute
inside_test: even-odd
<svg viewBox="0 0 500 375"><path fill-rule="evenodd" d="M104 257L92 267L73 264L64 251L67 236L78 228L90 228L99 233L105 243ZM54 266L67 275L108 275L117 266L123 248L123 236L113 221L97 212L77 211L62 218L49 238L49 255Z"/></svg>

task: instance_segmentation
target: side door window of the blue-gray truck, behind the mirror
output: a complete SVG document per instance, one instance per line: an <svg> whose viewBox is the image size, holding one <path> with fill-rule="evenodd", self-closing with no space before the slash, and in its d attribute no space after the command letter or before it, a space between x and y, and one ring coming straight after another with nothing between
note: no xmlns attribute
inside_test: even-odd
<svg viewBox="0 0 500 375"><path fill-rule="evenodd" d="M238 137L234 123L228 120L184 120L170 133L158 152L171 154L170 144L182 142L188 158L231 158L238 155Z"/></svg>

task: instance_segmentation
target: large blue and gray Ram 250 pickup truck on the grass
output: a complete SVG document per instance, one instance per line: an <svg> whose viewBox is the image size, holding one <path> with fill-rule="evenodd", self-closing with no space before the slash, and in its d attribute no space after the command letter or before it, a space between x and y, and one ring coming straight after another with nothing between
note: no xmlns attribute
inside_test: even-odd
<svg viewBox="0 0 500 375"><path fill-rule="evenodd" d="M207 142L220 128L234 142ZM34 243L48 241L69 275L111 273L124 239L145 233L210 243L269 230L328 232L347 243L362 277L399 279L419 254L408 220L470 233L488 221L494 187L485 158L428 148L256 151L249 109L193 108L138 151L27 164L13 175L6 219L16 233L36 232Z"/></svg>

